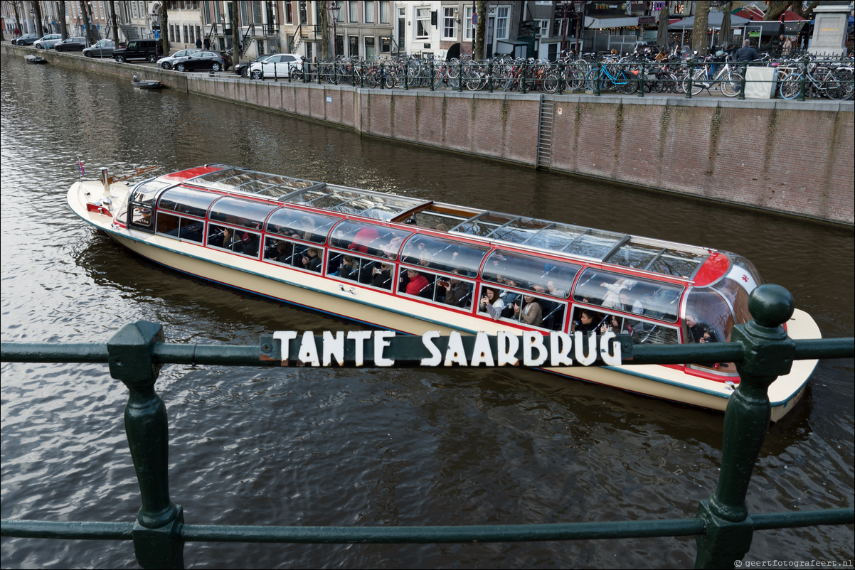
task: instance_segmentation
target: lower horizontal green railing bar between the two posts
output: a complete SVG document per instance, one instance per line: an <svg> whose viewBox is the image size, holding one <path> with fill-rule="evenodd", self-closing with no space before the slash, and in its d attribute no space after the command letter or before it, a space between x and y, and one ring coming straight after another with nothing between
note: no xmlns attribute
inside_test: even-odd
<svg viewBox="0 0 855 570"><path fill-rule="evenodd" d="M588 538L686 537L705 532L697 519L501 526L214 526L182 525L187 542L306 544L499 543Z"/></svg>

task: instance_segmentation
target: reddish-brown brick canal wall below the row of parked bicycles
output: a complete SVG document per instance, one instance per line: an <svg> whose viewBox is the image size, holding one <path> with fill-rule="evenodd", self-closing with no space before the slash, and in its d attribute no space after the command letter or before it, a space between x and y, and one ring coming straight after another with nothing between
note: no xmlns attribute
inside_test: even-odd
<svg viewBox="0 0 855 570"><path fill-rule="evenodd" d="M2 44L3 54L32 50ZM44 52L43 52L44 53ZM210 78L44 53L51 63L272 109L375 137L453 150L642 188L855 223L852 102L354 89ZM544 156L548 157L544 161Z"/></svg>

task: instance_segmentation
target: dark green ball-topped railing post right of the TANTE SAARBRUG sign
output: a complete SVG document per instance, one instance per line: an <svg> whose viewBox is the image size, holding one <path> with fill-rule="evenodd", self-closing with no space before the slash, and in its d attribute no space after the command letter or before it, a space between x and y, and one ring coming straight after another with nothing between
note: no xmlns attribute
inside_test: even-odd
<svg viewBox="0 0 855 570"><path fill-rule="evenodd" d="M794 306L793 296L781 285L761 285L748 298L754 320L734 327L731 342L742 344L745 356L736 365L740 385L724 413L716 492L698 508L707 532L697 538L696 568L733 568L751 547L746 494L772 416L769 385L793 366L795 343L781 325L793 315Z"/></svg>

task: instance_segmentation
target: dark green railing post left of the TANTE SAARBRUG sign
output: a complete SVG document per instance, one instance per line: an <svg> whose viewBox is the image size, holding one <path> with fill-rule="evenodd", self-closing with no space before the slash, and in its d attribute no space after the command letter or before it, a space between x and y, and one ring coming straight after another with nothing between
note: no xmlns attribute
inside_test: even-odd
<svg viewBox="0 0 855 570"><path fill-rule="evenodd" d="M129 391L125 432L142 501L133 525L134 555L144 568L183 568L184 514L169 499L169 427L166 405L155 391L161 365L154 347L162 341L162 326L138 320L109 339L107 353L110 376Z"/></svg>

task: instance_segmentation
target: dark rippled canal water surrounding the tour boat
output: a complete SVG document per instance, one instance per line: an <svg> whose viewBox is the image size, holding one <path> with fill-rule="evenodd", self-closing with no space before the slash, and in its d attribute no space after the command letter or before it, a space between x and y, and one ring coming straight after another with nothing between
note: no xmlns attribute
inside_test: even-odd
<svg viewBox="0 0 855 570"><path fill-rule="evenodd" d="M731 250L827 337L853 334L852 232L371 138L180 91L3 56L3 341L257 344L356 326L133 256L72 214L77 159L120 173L227 162ZM497 117L497 120L499 118ZM628 157L627 160L631 160ZM669 160L679 162L679 153ZM130 521L127 391L103 365L3 364L3 519ZM769 431L753 512L852 507L853 364L817 368ZM492 525L693 517L722 414L522 370L167 366L170 485L186 521ZM688 567L693 538L463 545L187 544L188 567ZM852 560L852 526L758 532L746 560ZM129 543L3 538L3 567L136 567Z"/></svg>

